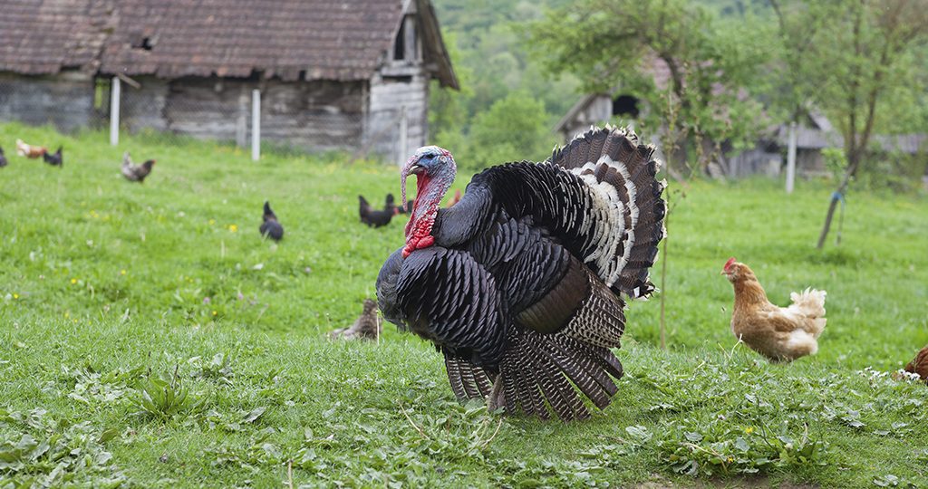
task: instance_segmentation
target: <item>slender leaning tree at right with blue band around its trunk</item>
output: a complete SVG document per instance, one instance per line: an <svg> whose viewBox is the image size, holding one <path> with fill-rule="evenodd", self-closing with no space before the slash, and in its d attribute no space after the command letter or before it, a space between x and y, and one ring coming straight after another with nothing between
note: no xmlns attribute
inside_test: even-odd
<svg viewBox="0 0 928 489"><path fill-rule="evenodd" d="M898 129L886 122L885 112L894 100L917 98L923 90L916 80L924 64L914 59L928 42L928 9L923 0L769 1L779 20L789 100L794 107L812 103L824 110L844 137L847 166L818 237L821 249L872 136L881 128Z"/></svg>

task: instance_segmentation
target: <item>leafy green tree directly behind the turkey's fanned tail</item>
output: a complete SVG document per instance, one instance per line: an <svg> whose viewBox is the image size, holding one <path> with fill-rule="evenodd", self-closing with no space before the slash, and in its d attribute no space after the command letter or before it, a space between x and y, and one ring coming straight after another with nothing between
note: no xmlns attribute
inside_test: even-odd
<svg viewBox="0 0 928 489"><path fill-rule="evenodd" d="M548 72L648 102L638 125L662 135L668 163L705 162L715 145L746 142L759 125L750 96L765 53L739 25L687 0L578 0L526 33Z"/></svg>

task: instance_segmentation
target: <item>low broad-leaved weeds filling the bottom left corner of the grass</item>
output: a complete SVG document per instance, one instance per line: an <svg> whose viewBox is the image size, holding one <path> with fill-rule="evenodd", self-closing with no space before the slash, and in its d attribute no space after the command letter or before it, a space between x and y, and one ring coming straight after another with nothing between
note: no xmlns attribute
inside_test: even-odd
<svg viewBox="0 0 928 489"><path fill-rule="evenodd" d="M104 448L118 431L45 415L43 409L0 409L0 486L116 487L126 481Z"/></svg>

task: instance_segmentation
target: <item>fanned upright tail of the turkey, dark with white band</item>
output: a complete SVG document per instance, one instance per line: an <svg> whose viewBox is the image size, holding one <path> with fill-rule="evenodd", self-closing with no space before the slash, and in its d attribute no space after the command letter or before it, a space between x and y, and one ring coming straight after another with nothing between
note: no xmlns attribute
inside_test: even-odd
<svg viewBox="0 0 928 489"><path fill-rule="evenodd" d="M595 251L591 266L612 290L633 299L654 291L649 269L665 235L666 204L661 194L666 184L654 178L660 162L653 153L654 148L638 143L633 131L607 126L575 137L550 159L583 178L599 198L599 206L621 212L612 229L621 233L619 245L604 240L612 248Z"/></svg>

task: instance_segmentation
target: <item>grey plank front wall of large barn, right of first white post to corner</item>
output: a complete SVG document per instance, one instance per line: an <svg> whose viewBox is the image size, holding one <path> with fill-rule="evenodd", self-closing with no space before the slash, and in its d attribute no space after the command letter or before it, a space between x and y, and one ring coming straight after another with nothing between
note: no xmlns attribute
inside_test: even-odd
<svg viewBox="0 0 928 489"><path fill-rule="evenodd" d="M312 150L356 148L363 135L364 84L329 81L284 83L220 78L137 80L123 88L122 123L131 131L155 129L202 139L251 138L251 91L261 95L263 141Z"/></svg>

